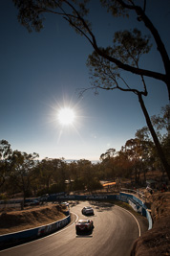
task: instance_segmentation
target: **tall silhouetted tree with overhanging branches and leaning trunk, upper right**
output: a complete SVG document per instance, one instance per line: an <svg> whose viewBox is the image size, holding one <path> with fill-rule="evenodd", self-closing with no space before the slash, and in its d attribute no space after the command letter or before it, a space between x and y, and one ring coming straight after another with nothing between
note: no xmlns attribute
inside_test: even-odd
<svg viewBox="0 0 170 256"><path fill-rule="evenodd" d="M170 100L170 60L158 30L146 15L146 0L139 2L135 0L100 0L100 2L115 18L117 16L128 16L132 12L136 14L138 22L143 23L154 39L164 67L164 73L139 67L140 57L149 52L151 44L149 43L149 37L141 35L137 29L117 32L112 47L99 47L96 41L96 35L91 29L91 24L85 19L88 13L86 6L87 2L89 2L88 0L13 0L13 2L19 10L19 22L29 31L34 29L39 32L43 28L43 14L50 12L61 15L69 22L76 33L85 36L94 48L94 53L88 59L88 65L91 67L93 79L95 79L93 88L96 90L104 89L112 91L119 89L124 92L132 92L138 96L139 105L152 134L162 165L170 179L170 165L162 151L158 136L153 128L143 101L143 97L146 97L148 94L144 80L145 77L164 82ZM143 88L139 89L137 85L132 87L132 84L128 84L123 74L121 74L122 71L128 72L128 74L138 75ZM82 90L82 92L85 90Z"/></svg>

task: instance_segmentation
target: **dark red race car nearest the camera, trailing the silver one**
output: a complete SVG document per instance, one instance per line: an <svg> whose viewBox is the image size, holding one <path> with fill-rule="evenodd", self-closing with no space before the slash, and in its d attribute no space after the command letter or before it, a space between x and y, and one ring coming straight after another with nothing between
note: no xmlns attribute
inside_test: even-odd
<svg viewBox="0 0 170 256"><path fill-rule="evenodd" d="M94 221L90 220L79 220L75 224L76 235L92 234L94 230Z"/></svg>

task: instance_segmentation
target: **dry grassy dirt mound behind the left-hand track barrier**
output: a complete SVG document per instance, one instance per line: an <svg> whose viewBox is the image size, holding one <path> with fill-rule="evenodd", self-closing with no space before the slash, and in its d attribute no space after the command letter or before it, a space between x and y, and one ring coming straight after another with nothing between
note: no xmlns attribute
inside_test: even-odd
<svg viewBox="0 0 170 256"><path fill-rule="evenodd" d="M59 205L28 207L23 211L2 209L0 235L17 232L66 218Z"/></svg>

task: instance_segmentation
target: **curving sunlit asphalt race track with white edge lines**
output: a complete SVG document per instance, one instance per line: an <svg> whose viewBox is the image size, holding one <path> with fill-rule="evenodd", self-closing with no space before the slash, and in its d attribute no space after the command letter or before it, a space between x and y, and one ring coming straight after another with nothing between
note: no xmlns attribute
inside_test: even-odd
<svg viewBox="0 0 170 256"><path fill-rule="evenodd" d="M88 219L81 214L87 201L71 205L72 223L64 229L28 244L18 245L0 252L3 256L129 256L132 244L141 229L146 229L146 220L138 221L126 210L104 202L92 202L95 229L92 235L76 236L74 221Z"/></svg>

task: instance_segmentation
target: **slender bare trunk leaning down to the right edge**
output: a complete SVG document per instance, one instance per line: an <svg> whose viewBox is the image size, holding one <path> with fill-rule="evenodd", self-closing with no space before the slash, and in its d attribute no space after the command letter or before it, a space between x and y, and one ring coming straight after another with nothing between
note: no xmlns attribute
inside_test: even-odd
<svg viewBox="0 0 170 256"><path fill-rule="evenodd" d="M144 102L143 102L143 99L142 99L142 95L140 93L138 93L138 101L139 101L139 104L140 104L141 109L143 111L143 114L145 116L147 126L148 126L148 128L149 128L149 130L151 132L152 137L153 137L153 140L154 140L155 146L157 148L157 151L158 151L158 154L159 154L159 158L160 158L161 163L163 165L164 171L166 172L166 174L168 175L168 178L170 180L170 165L168 164L168 162L166 160L166 157L164 155L164 152L161 149L157 133L156 133L155 129L153 128L153 125L151 123L149 114L148 114L147 109L146 109L146 107L144 105Z"/></svg>

